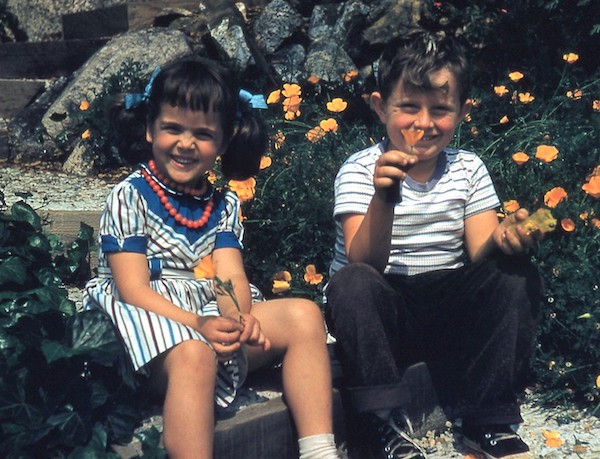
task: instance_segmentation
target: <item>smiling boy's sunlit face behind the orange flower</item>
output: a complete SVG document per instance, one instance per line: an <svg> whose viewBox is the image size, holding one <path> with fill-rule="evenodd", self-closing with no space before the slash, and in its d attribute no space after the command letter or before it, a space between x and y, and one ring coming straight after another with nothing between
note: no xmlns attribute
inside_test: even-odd
<svg viewBox="0 0 600 459"><path fill-rule="evenodd" d="M456 79L449 70L433 73L431 83L436 89L407 87L400 81L388 100L383 100L378 92L371 95L373 108L386 126L388 150L417 155L421 165L427 161L435 164L471 107L470 101L460 103ZM402 135L406 129L424 131L412 148Z"/></svg>

